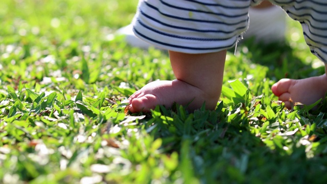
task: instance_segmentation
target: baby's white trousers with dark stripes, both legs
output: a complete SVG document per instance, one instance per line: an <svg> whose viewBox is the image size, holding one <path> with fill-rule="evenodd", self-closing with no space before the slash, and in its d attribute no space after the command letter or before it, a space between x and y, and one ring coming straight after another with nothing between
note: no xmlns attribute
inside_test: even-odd
<svg viewBox="0 0 327 184"><path fill-rule="evenodd" d="M141 0L135 35L156 47L183 53L235 47L249 25L248 11L261 0ZM327 1L272 0L301 23L311 52L327 63Z"/></svg>

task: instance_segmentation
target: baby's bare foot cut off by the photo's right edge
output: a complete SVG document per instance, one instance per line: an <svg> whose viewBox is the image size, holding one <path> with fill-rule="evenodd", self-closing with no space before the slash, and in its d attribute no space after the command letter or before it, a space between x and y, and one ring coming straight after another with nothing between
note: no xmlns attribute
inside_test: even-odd
<svg viewBox="0 0 327 184"><path fill-rule="evenodd" d="M324 74L300 80L281 79L272 85L271 90L287 108L292 108L290 99L293 103L311 105L324 98L327 92L327 76Z"/></svg>

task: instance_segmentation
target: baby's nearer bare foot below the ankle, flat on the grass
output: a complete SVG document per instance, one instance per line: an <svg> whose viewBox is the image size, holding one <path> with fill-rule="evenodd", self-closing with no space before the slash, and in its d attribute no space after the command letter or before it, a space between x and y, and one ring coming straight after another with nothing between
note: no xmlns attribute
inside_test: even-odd
<svg viewBox="0 0 327 184"><path fill-rule="evenodd" d="M156 105L172 107L174 102L188 106L188 110L200 108L205 102L207 109L215 109L219 93L209 96L205 91L181 80L154 81L129 97L129 110L134 112L148 112Z"/></svg>

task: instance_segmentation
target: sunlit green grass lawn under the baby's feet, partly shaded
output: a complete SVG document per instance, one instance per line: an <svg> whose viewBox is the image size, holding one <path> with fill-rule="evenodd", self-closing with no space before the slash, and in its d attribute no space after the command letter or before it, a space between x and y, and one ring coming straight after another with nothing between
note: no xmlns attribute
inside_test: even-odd
<svg viewBox="0 0 327 184"><path fill-rule="evenodd" d="M215 111L126 116L136 89L174 78L167 52L113 36L136 5L2 0L0 183L327 181L326 100L290 111L270 91L323 74L297 23L285 44L247 40L228 53Z"/></svg>

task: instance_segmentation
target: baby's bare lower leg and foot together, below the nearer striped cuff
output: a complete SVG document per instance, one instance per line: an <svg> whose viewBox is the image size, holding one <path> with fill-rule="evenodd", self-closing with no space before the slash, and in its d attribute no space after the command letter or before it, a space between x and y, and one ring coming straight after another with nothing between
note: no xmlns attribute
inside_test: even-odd
<svg viewBox="0 0 327 184"><path fill-rule="evenodd" d="M174 102L188 110L199 109L205 102L213 110L220 97L226 51L206 54L169 52L176 79L154 81L129 98L129 110L148 112L156 105L172 107Z"/></svg>

